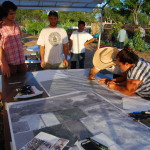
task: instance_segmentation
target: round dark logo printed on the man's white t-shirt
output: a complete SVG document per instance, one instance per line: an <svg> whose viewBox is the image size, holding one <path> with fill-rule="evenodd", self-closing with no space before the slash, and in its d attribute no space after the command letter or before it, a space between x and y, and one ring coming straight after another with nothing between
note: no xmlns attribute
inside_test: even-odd
<svg viewBox="0 0 150 150"><path fill-rule="evenodd" d="M60 40L61 40L61 36L58 32L52 32L49 35L49 42L51 45L53 46L57 46L58 44L60 44Z"/></svg>

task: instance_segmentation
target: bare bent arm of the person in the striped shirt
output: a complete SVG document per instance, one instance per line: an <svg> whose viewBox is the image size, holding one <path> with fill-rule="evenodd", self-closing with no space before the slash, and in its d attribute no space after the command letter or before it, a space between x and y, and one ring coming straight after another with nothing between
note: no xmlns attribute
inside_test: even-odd
<svg viewBox="0 0 150 150"><path fill-rule="evenodd" d="M125 95L131 96L136 93L136 90L138 89L140 84L142 84L142 81L140 80L127 79L125 87L118 86L115 83L109 83L108 87L110 89L117 90Z"/></svg>

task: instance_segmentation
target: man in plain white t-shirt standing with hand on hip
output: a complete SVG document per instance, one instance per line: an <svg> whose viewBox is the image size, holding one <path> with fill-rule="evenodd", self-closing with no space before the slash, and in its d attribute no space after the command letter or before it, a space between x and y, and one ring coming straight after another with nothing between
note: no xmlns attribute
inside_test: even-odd
<svg viewBox="0 0 150 150"><path fill-rule="evenodd" d="M80 69L84 68L85 46L95 40L84 28L85 22L79 21L78 30L73 31L70 37L71 69L76 69L77 62Z"/></svg>

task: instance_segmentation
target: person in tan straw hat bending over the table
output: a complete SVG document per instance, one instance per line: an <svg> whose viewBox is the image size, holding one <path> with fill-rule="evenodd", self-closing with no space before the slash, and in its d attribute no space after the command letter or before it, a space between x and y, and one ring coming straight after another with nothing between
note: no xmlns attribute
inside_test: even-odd
<svg viewBox="0 0 150 150"><path fill-rule="evenodd" d="M108 70L114 75L120 75L121 69L116 65L116 55L119 50L116 47L103 47L96 50L93 56L94 67L89 71L89 80L95 80L95 75L101 70Z"/></svg>

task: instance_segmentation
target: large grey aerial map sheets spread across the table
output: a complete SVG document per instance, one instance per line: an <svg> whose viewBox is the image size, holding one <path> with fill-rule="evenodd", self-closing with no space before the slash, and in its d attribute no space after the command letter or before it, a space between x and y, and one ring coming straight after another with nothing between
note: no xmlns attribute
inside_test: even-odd
<svg viewBox="0 0 150 150"><path fill-rule="evenodd" d="M133 121L124 110L127 97L88 81L87 70L51 72L42 79L33 73L48 98L7 104L14 149L39 132L68 139L70 150L77 149L77 141L98 134L111 139L118 150L150 149L149 128Z"/></svg>

